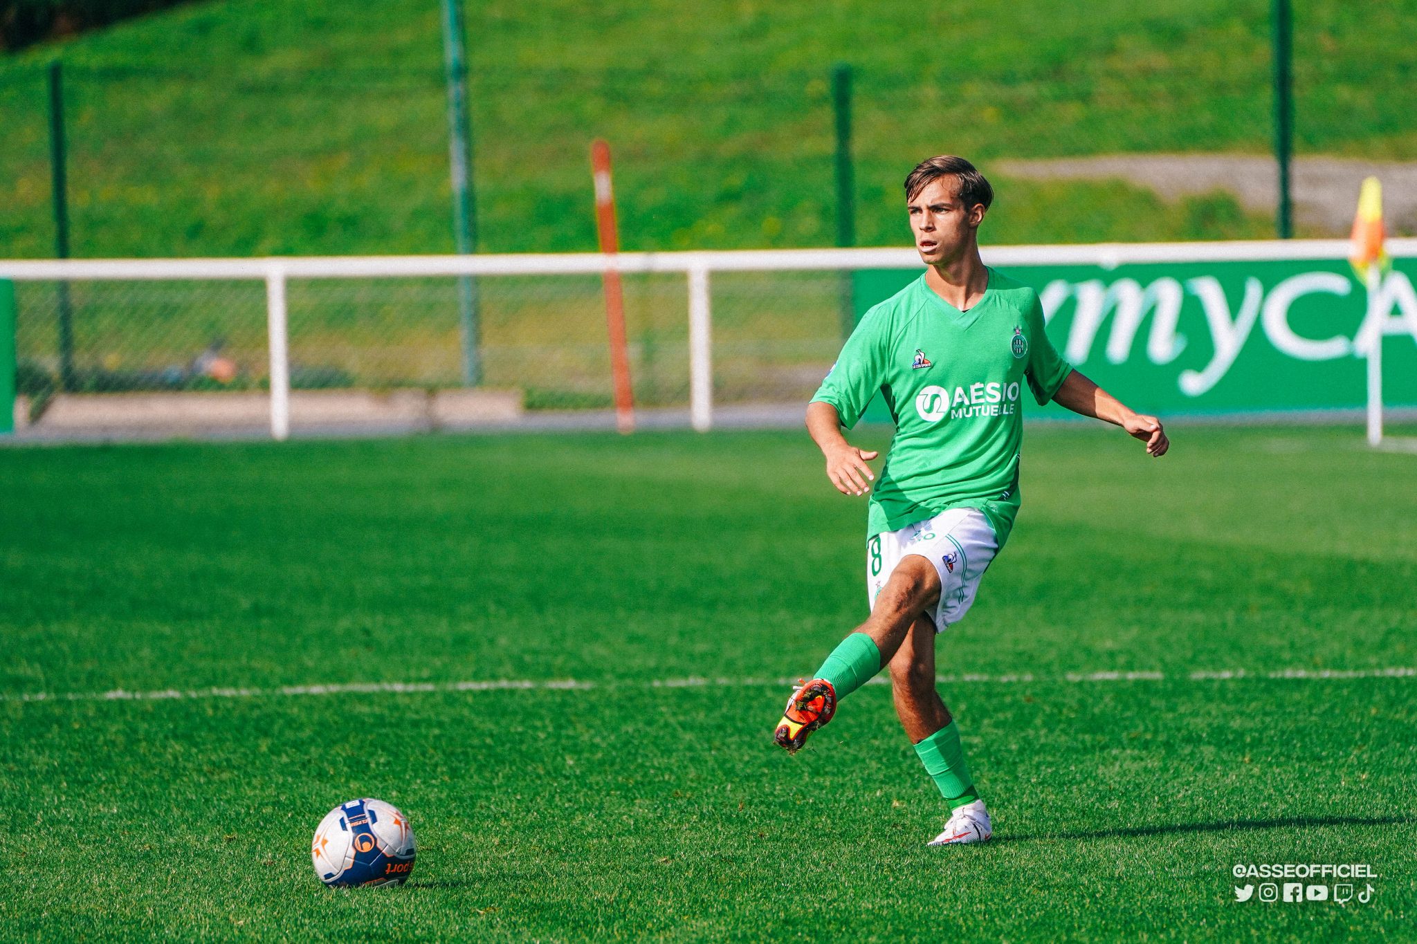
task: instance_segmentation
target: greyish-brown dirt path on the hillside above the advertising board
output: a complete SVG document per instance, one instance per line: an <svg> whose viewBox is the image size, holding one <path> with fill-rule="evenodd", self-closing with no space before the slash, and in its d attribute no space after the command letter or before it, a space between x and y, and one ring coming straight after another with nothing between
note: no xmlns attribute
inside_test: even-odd
<svg viewBox="0 0 1417 944"><path fill-rule="evenodd" d="M1117 154L1057 160L1003 160L992 164L1009 177L1029 180L1121 178L1166 200L1224 190L1246 209L1274 212L1278 181L1272 157L1243 154ZM1353 225L1357 188L1365 177L1383 181L1383 209L1393 235L1417 234L1417 163L1342 157L1294 160L1294 218L1315 235L1343 236Z"/></svg>

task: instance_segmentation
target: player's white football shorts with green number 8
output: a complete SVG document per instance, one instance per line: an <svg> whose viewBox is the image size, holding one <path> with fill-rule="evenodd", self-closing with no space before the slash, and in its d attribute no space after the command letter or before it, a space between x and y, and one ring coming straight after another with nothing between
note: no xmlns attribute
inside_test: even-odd
<svg viewBox="0 0 1417 944"><path fill-rule="evenodd" d="M973 604L979 577L999 552L999 539L978 508L949 508L934 518L886 531L866 542L866 593L871 609L901 558L918 553L939 575L939 603L925 616L935 631L958 623Z"/></svg>

